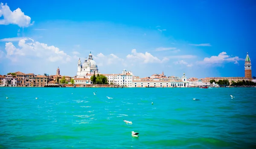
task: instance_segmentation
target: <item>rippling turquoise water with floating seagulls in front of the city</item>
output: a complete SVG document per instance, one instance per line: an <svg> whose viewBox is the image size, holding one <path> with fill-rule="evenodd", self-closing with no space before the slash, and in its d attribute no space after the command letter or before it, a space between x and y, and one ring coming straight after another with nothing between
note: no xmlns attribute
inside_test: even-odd
<svg viewBox="0 0 256 149"><path fill-rule="evenodd" d="M0 87L0 148L255 149L255 97L256 88Z"/></svg>

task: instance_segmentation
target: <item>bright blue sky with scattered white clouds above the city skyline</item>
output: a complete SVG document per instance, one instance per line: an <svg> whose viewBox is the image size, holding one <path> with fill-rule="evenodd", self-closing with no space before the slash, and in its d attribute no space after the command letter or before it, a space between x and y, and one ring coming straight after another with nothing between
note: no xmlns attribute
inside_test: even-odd
<svg viewBox="0 0 256 149"><path fill-rule="evenodd" d="M90 51L101 73L141 77L244 76L247 52L256 64L253 0L0 3L0 74L75 76Z"/></svg>

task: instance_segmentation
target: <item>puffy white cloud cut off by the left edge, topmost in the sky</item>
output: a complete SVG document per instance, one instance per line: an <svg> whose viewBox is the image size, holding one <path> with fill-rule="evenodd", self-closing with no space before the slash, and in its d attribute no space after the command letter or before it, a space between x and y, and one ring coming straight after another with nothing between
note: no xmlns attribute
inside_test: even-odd
<svg viewBox="0 0 256 149"><path fill-rule="evenodd" d="M3 19L0 20L0 25L15 24L20 27L29 27L34 24L34 21L30 23L31 18L26 16L20 8L11 11L7 3L5 5L3 3L0 4L0 17L2 16Z"/></svg>

